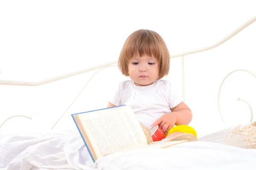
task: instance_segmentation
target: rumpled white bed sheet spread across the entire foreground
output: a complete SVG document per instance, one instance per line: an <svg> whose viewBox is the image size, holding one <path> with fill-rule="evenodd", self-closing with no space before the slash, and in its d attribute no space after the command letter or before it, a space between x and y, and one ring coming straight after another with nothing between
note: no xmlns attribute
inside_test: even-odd
<svg viewBox="0 0 256 170"><path fill-rule="evenodd" d="M255 167L256 150L222 144L226 129L160 150L133 150L90 159L77 132L49 131L0 136L1 170L245 170ZM212 142L209 142L212 141Z"/></svg>

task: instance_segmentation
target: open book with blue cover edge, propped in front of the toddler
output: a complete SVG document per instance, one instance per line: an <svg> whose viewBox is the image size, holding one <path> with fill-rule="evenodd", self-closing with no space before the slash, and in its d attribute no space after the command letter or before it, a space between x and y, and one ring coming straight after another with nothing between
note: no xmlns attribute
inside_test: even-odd
<svg viewBox="0 0 256 170"><path fill-rule="evenodd" d="M110 153L186 142L165 140L148 144L134 112L126 105L76 113L72 117L93 161Z"/></svg>

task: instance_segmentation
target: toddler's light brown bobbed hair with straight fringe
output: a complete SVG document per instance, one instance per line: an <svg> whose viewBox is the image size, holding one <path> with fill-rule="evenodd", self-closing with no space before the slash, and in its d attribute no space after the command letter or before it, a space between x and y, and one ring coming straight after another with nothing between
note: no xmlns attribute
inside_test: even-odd
<svg viewBox="0 0 256 170"><path fill-rule="evenodd" d="M154 31L140 29L134 31L125 41L118 59L118 68L125 76L128 74L128 62L134 56L147 54L158 60L159 77L167 76L170 68L170 54L163 38Z"/></svg>

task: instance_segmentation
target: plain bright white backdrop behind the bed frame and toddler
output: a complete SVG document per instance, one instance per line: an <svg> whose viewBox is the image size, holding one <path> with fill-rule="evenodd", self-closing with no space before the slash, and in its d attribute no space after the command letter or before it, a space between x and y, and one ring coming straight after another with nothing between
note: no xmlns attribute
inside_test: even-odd
<svg viewBox="0 0 256 170"><path fill-rule="evenodd" d="M137 29L151 29L165 40L170 54L217 42L251 17L254 0L129 0L0 1L0 79L40 81L49 77L116 60L126 38ZM198 133L248 122L246 99L256 109L256 23L209 51L185 56L186 103L193 111L191 125ZM165 79L181 87L180 58L171 59ZM0 133L44 130L68 108L96 71L36 87L0 85L0 123L15 118ZM126 77L116 67L97 74L56 126L76 130L70 114L105 108L115 85ZM181 88L180 88L181 90ZM254 119L255 120L255 119Z"/></svg>

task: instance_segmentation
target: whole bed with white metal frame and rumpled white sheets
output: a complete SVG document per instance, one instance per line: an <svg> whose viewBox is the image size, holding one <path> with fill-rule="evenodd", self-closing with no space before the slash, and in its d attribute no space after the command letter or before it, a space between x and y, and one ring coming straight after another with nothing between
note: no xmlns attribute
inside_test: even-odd
<svg viewBox="0 0 256 170"><path fill-rule="evenodd" d="M198 48L192 51L185 51L180 54L171 55L172 58L180 59L181 70L181 87L183 97L191 94L191 89L186 88L190 80L185 79L186 73L186 60L195 57L195 54L202 53L203 51L210 51L219 45L224 44L236 34L242 31L246 31L246 28L250 28L256 24L256 16L252 17L247 22L243 23L234 31L230 32L226 37L222 38L212 45L208 45L203 48ZM255 38L254 38L255 39ZM252 45L255 48L255 43ZM184 56L190 56L184 59ZM254 54L255 56L255 54ZM204 62L204 61L202 61ZM31 119L28 115L13 115L2 121L0 125L0 169L1 170L164 170L164 169L252 169L255 167L256 150L243 149L239 147L233 147L225 144L225 136L228 130L233 129L236 125L245 122L228 122L227 118L223 115L227 111L221 110L221 93L223 92L224 82L235 72L245 72L250 77L256 78L256 75L248 69L234 69L227 71L228 73L223 76L223 73L210 72L207 75L221 75L219 77L221 83L218 90L212 90L217 92L217 104L216 109L213 110L215 114L218 111L218 127L212 131L204 131L202 127L198 126L199 138L198 142L186 142L182 144L169 147L165 150L136 150L126 151L111 154L98 159L95 163L90 159L89 153L84 146L84 143L79 135L79 132L75 129L63 130L57 129L57 125L61 122L66 115L69 114L70 108L79 98L80 94L85 88L88 88L89 82L93 77L107 68L115 67L117 61L105 63L104 65L96 65L91 68L75 71L68 74L63 74L57 77L51 77L39 82L22 82L11 80L0 80L0 85L9 86L41 86L55 81L61 81L61 79L67 79L76 75L84 74L87 72L93 72L92 77L82 85L82 90L78 91L74 99L70 101L67 109L64 109L63 113L58 117L55 122L48 129L34 130L34 131L22 131L14 134L1 133L4 125L8 124L11 119ZM201 70L200 70L201 71ZM243 75L242 75L243 76ZM195 81L195 79L194 79ZM192 84L192 83L191 83ZM187 93L186 89L190 90ZM186 93L186 94L185 94ZM202 91L202 93L204 93ZM253 92L251 93L251 95ZM254 96L253 96L254 97ZM187 98L186 98L187 99ZM237 98L240 102L243 102L247 107L243 111L241 116L246 117L247 123L255 121L253 118L253 105L245 98ZM255 101L255 97L254 97ZM189 100L188 100L189 102ZM192 103L192 102L191 102ZM233 104L234 105L234 104ZM236 108L238 109L238 108ZM202 116L202 115L200 115ZM209 116L209 115L207 115ZM248 118L249 117L249 118ZM69 117L71 119L71 117ZM196 119L196 118L193 118ZM222 122L222 124L220 123ZM207 124L209 122L204 122Z"/></svg>

